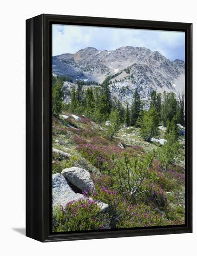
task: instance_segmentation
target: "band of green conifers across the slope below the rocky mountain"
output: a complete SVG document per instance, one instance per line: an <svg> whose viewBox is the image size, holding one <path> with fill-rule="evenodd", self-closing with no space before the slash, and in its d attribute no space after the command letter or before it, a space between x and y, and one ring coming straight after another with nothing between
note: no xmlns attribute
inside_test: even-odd
<svg viewBox="0 0 197 256"><path fill-rule="evenodd" d="M184 94L178 97L173 93L164 92L163 95L153 91L148 109L144 109L138 88L134 90L132 104L126 104L126 108L116 98L112 99L109 89L109 78L101 84L101 87L83 89L84 83L78 82L77 88L73 86L71 101L63 103L63 80L53 77L52 80L52 114L59 115L62 109L66 109L77 115L85 115L87 118L99 123L111 121L108 130L112 137L118 129L125 125L139 127L141 136L145 141L158 135L158 126L164 125L170 131L177 123L184 126ZM112 129L114 127L114 129Z"/></svg>

